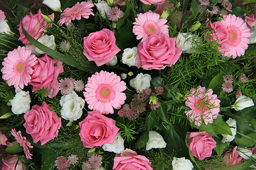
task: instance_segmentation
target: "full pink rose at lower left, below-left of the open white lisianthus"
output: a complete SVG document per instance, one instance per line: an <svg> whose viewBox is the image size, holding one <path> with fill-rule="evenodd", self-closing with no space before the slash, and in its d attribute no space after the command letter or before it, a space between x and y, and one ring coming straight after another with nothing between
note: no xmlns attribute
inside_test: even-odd
<svg viewBox="0 0 256 170"><path fill-rule="evenodd" d="M24 119L26 123L23 126L26 132L32 136L34 143L40 141L41 145L57 137L61 126L61 118L46 102L41 106L32 106L32 109L24 114Z"/></svg>

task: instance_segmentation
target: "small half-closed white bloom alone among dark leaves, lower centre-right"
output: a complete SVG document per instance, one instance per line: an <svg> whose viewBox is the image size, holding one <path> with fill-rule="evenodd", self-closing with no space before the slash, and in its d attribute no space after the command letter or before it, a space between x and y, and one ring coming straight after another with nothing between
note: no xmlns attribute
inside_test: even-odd
<svg viewBox="0 0 256 170"><path fill-rule="evenodd" d="M150 150L152 148L165 148L166 142L164 142L164 138L156 131L149 131L149 140L146 142L146 150Z"/></svg>

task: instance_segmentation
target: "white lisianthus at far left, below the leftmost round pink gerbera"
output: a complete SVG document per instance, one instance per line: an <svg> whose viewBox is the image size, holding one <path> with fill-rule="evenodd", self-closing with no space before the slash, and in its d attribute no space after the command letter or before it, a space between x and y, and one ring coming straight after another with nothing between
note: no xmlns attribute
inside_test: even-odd
<svg viewBox="0 0 256 170"><path fill-rule="evenodd" d="M11 111L20 115L26 113L30 109L31 97L29 96L29 91L22 91L20 88L15 89L16 95L11 102Z"/></svg>

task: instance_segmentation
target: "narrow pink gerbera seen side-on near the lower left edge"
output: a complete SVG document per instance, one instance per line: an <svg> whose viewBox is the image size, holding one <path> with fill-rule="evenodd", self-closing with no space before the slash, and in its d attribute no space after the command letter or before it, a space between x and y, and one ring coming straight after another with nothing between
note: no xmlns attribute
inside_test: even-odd
<svg viewBox="0 0 256 170"><path fill-rule="evenodd" d="M21 135L21 131L16 132L15 129L12 129L11 130L11 135L13 135L15 137L15 139L16 139L16 142L21 147L23 147L24 153L26 155L26 159L32 159L32 157L31 157L32 154L29 152L28 147L29 148L33 148L33 147L31 146L31 143L26 140L26 137L23 137Z"/></svg>

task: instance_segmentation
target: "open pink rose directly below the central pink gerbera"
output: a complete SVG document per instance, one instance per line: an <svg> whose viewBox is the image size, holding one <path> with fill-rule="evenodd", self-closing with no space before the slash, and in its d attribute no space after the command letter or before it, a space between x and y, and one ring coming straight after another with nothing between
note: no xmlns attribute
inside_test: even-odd
<svg viewBox="0 0 256 170"><path fill-rule="evenodd" d="M119 131L114 123L114 120L98 111L88 111L87 117L79 123L82 145L92 148L113 144Z"/></svg>

